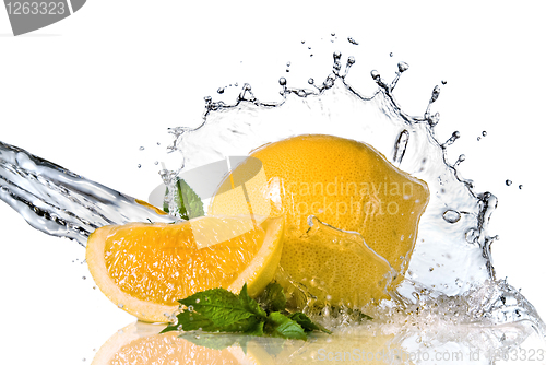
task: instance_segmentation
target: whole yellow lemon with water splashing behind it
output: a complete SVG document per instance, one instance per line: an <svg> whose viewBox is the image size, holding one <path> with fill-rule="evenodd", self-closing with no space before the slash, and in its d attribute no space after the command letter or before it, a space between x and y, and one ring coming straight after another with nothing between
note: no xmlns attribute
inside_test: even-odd
<svg viewBox="0 0 546 365"><path fill-rule="evenodd" d="M245 195L230 191L233 187L244 188ZM282 271L331 303L361 306L388 297L377 289L389 269L377 262L384 259L399 274L405 272L428 200L426 182L393 166L372 146L306 134L254 150L219 186L209 212L248 214L250 203L257 214L283 214ZM308 232L310 216L359 236L313 234ZM365 250L379 260L373 268Z"/></svg>

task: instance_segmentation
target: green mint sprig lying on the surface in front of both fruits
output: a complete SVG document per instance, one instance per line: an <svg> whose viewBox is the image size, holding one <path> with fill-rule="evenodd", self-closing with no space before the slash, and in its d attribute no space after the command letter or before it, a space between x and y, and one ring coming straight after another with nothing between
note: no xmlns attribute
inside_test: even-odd
<svg viewBox="0 0 546 365"><path fill-rule="evenodd" d="M247 284L239 295L222 287L195 293L178 301L185 309L177 316L177 323L162 333L202 330L298 340L307 340L311 331L332 333L302 313L287 313L286 297L276 283L269 284L259 301L260 304L248 295Z"/></svg>

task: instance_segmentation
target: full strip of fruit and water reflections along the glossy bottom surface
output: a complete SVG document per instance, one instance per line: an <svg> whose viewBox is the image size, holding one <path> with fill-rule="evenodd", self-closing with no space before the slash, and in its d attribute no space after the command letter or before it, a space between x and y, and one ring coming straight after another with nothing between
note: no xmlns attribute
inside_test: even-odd
<svg viewBox="0 0 546 365"><path fill-rule="evenodd" d="M103 364L546 364L546 346L526 322L393 331L341 328L308 341L237 333L158 334L163 325L134 322L97 352Z"/></svg>

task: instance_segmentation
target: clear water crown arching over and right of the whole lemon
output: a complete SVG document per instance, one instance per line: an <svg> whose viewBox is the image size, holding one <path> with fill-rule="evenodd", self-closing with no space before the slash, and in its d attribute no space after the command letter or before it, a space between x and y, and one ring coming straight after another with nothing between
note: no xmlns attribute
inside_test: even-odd
<svg viewBox="0 0 546 365"><path fill-rule="evenodd" d="M496 198L475 193L458 177L455 167L447 164L446 146L452 141L435 139L438 115L430 115L430 105L423 118L410 117L396 105L392 91L407 64L399 64L390 84L372 71L380 87L366 97L345 82L354 58L348 58L343 73L340 58L334 54L334 72L322 85L290 89L281 79L281 103L258 101L249 85L234 105L207 98L200 127L170 130L176 137L170 149L181 152L182 170L298 134L333 134L370 143L393 165L429 185L431 198L420 220L407 278L447 295L463 294L473 284L494 280L487 223ZM430 104L439 92L435 87Z"/></svg>

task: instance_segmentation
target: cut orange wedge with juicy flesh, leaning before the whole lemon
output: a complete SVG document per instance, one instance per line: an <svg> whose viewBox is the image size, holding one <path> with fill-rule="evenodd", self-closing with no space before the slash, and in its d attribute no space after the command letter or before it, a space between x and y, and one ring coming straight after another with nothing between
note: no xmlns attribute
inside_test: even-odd
<svg viewBox="0 0 546 365"><path fill-rule="evenodd" d="M144 321L168 321L177 301L207 289L258 295L273 279L284 222L198 217L176 224L131 223L96 229L86 260L97 286Z"/></svg>

